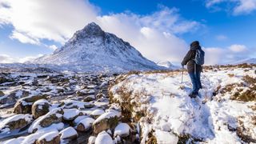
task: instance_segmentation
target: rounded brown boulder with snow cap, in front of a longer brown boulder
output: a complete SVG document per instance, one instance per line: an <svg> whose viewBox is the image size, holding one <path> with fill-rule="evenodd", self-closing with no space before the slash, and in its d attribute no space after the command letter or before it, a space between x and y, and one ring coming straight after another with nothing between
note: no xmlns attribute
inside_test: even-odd
<svg viewBox="0 0 256 144"><path fill-rule="evenodd" d="M39 99L32 105L32 115L35 119L45 115L50 110L50 103L46 99Z"/></svg>

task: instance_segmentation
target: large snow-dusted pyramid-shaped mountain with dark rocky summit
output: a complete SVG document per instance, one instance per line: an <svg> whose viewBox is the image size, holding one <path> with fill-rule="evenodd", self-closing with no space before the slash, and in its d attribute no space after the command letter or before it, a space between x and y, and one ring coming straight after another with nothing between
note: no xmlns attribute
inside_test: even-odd
<svg viewBox="0 0 256 144"><path fill-rule="evenodd" d="M78 30L54 54L42 56L30 63L87 72L164 69L144 58L122 38L104 32L94 22Z"/></svg>

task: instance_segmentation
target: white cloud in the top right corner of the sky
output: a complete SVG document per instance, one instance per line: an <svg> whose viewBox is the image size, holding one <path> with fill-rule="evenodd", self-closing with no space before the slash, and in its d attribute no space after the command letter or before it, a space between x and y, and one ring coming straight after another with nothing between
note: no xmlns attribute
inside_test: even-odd
<svg viewBox="0 0 256 144"><path fill-rule="evenodd" d="M218 4L224 2L228 4L226 10L230 10L230 6L233 6L231 10L234 15L250 14L256 10L256 0L206 0L206 7L216 8Z"/></svg>

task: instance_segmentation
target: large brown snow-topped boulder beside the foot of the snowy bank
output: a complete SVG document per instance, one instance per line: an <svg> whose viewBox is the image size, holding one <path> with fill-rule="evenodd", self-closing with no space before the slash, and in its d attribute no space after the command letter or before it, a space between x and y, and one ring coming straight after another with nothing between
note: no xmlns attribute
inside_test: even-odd
<svg viewBox="0 0 256 144"><path fill-rule="evenodd" d="M98 134L103 130L113 130L118 125L120 116L120 112L116 110L110 110L99 116L93 123L94 134Z"/></svg>

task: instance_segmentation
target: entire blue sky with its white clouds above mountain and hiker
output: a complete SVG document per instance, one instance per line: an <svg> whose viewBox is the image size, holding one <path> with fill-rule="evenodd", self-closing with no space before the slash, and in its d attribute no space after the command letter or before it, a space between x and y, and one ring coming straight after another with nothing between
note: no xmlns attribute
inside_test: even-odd
<svg viewBox="0 0 256 144"><path fill-rule="evenodd" d="M92 21L154 61L179 62L194 40L209 64L256 57L256 0L2 0L0 62L51 54Z"/></svg>

